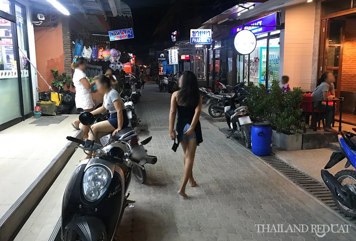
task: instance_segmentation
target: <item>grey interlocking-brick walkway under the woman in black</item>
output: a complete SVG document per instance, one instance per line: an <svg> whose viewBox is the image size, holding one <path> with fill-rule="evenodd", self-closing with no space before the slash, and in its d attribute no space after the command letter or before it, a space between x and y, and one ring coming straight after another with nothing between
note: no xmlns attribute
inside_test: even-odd
<svg viewBox="0 0 356 241"><path fill-rule="evenodd" d="M188 199L177 194L183 171L182 149L171 150L168 112L171 94L147 83L135 106L142 138L152 135L146 165L147 184L132 178L130 199L120 225L120 240L354 240L356 232L319 238L311 225L345 224L328 209L281 177L250 152L226 139L201 118L204 142L197 149L193 173L198 186L187 186ZM260 224L305 224L309 232L257 232ZM321 233L322 234L322 233Z"/></svg>

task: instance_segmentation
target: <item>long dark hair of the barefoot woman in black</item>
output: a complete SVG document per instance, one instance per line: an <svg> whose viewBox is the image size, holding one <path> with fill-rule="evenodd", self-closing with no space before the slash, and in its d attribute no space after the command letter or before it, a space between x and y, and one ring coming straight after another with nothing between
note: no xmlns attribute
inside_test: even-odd
<svg viewBox="0 0 356 241"><path fill-rule="evenodd" d="M200 98L197 77L192 71L184 71L181 78L182 88L178 91L178 104L197 107Z"/></svg>

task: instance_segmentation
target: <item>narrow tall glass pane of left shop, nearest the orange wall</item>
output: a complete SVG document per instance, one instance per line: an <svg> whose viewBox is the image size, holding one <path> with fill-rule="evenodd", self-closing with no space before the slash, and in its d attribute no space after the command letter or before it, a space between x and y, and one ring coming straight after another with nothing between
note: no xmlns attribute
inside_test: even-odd
<svg viewBox="0 0 356 241"><path fill-rule="evenodd" d="M17 27L17 41L19 42L20 55L20 76L22 82L22 95L23 95L23 109L25 115L32 111L31 103L31 82L28 74L28 67L30 63L27 61L27 25L25 17L25 9L15 4L16 11L16 27Z"/></svg>

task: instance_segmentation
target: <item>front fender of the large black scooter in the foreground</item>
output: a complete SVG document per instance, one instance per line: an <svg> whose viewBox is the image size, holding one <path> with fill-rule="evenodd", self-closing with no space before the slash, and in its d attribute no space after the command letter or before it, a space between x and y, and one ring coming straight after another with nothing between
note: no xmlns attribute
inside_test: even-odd
<svg viewBox="0 0 356 241"><path fill-rule="evenodd" d="M71 230L75 231L83 241L109 240L104 222L99 218L82 216L73 219L64 230L63 241L71 241L72 237L67 236Z"/></svg>

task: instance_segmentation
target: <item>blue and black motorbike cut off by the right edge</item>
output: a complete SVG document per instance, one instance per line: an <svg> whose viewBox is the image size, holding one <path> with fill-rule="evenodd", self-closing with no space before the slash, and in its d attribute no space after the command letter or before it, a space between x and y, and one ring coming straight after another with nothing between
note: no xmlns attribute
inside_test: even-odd
<svg viewBox="0 0 356 241"><path fill-rule="evenodd" d="M346 158L345 168L356 168L356 134L341 131L338 135L339 147L331 154L329 162L321 170L321 177L332 193L335 204L348 217L356 217L356 171L341 170L335 176L325 169L335 166Z"/></svg>

